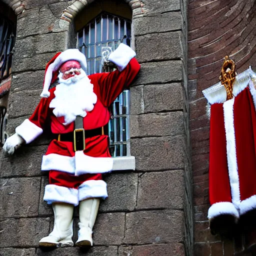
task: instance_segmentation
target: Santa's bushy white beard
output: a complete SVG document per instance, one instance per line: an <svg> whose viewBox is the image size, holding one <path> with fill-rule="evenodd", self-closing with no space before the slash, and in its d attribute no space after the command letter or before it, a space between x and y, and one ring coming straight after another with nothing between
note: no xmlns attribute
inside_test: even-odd
<svg viewBox="0 0 256 256"><path fill-rule="evenodd" d="M64 116L64 125L73 122L77 115L86 116L86 111L91 111L97 101L93 92L93 84L85 72L81 70L79 75L68 79L62 79L59 73L59 84L54 91L55 97L50 101L49 107L54 108L56 117Z"/></svg>

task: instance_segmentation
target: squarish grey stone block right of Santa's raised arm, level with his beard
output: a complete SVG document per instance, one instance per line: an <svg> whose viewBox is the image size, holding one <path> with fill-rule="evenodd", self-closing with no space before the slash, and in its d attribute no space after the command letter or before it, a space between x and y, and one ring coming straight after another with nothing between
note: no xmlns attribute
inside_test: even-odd
<svg viewBox="0 0 256 256"><path fill-rule="evenodd" d="M144 112L183 109L183 92L180 83L150 84L144 86Z"/></svg>

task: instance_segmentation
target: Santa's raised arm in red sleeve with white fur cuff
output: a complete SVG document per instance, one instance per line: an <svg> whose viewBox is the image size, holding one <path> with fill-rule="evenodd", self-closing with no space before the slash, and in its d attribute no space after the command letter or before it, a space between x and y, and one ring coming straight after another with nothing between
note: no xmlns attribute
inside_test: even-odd
<svg viewBox="0 0 256 256"><path fill-rule="evenodd" d="M101 97L105 106L109 106L114 99L127 88L137 75L140 65L135 59L135 51L126 44L119 46L109 55L108 60L117 66L117 70L108 73L96 73L89 77L97 79L99 85L96 94ZM94 88L97 90L97 88Z"/></svg>

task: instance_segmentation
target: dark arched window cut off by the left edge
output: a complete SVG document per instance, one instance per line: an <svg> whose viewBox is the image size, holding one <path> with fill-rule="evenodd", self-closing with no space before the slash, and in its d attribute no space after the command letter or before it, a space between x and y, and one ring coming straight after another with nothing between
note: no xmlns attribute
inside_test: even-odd
<svg viewBox="0 0 256 256"><path fill-rule="evenodd" d="M4 3L0 2L0 143L7 137L6 109L11 83L12 48L15 41L16 16Z"/></svg>

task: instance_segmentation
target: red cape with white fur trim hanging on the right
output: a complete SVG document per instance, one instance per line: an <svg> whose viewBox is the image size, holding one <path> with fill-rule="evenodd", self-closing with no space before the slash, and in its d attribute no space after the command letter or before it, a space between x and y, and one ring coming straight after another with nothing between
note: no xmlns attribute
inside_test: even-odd
<svg viewBox="0 0 256 256"><path fill-rule="evenodd" d="M256 91L249 68L236 75L233 98L223 85L203 91L210 106L208 218L238 219L256 208Z"/></svg>

